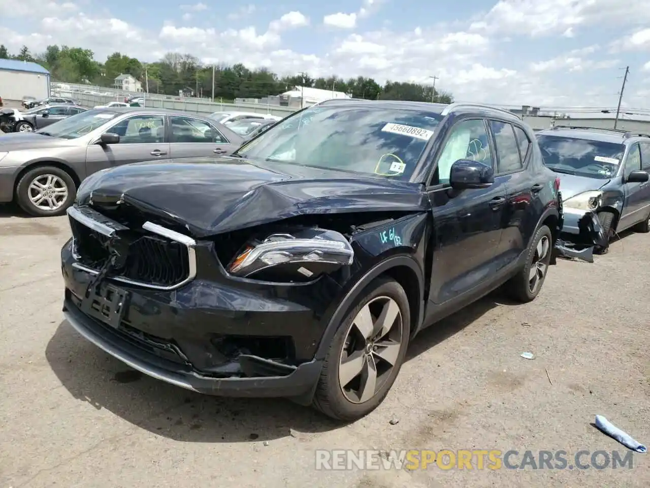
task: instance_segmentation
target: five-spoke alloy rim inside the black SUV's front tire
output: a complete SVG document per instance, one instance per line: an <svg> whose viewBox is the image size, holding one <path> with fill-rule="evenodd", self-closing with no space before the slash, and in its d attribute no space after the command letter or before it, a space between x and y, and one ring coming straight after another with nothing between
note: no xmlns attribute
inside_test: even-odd
<svg viewBox="0 0 650 488"><path fill-rule="evenodd" d="M339 360L339 385L346 400L375 396L398 364L404 324L397 302L380 296L359 310L348 329Z"/></svg>

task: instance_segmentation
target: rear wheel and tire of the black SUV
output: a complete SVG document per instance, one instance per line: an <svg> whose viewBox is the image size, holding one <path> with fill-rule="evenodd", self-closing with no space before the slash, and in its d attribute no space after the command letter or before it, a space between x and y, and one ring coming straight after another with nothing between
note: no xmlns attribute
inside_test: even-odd
<svg viewBox="0 0 650 488"><path fill-rule="evenodd" d="M525 266L504 287L513 299L528 303L539 295L551 263L553 238L548 226L541 226L530 241Z"/></svg>

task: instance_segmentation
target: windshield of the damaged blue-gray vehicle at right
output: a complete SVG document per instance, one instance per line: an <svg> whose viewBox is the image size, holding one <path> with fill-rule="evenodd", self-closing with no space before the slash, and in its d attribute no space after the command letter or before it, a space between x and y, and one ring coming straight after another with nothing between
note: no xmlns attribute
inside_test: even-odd
<svg viewBox="0 0 650 488"><path fill-rule="evenodd" d="M544 164L558 173L607 180L616 175L625 146L542 134L537 136Z"/></svg>

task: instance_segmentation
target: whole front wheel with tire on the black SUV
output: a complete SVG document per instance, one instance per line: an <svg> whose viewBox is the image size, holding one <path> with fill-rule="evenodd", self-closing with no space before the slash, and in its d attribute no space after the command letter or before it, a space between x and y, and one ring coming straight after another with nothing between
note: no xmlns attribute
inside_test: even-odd
<svg viewBox="0 0 650 488"><path fill-rule="evenodd" d="M410 324L404 288L389 278L370 282L333 337L312 406L345 421L376 409L404 362Z"/></svg>

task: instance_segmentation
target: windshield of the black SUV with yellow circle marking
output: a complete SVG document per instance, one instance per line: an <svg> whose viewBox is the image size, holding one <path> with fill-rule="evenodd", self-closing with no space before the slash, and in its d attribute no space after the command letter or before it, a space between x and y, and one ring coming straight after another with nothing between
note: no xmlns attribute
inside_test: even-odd
<svg viewBox="0 0 650 488"><path fill-rule="evenodd" d="M285 118L236 154L409 180L442 119L429 111L317 105Z"/></svg>

